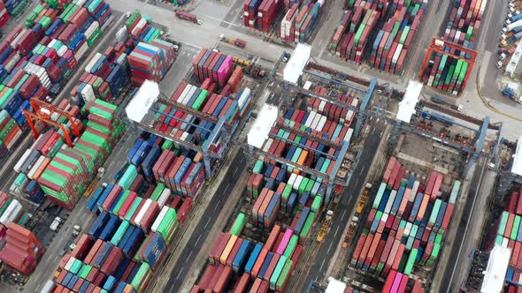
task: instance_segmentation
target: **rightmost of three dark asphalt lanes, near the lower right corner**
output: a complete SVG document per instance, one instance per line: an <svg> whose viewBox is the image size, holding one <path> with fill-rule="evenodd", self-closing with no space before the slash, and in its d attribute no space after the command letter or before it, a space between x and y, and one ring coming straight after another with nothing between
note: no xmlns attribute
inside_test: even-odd
<svg viewBox="0 0 522 293"><path fill-rule="evenodd" d="M457 278L454 278L458 273L459 266L461 269L466 269L467 267L467 251L463 250L462 247L465 243L469 243L472 241L473 237L467 235L467 229L470 225L469 219L471 219L472 214L474 212L475 199L477 198L480 191L480 184L482 183L483 178L486 176L487 162L484 162L484 159L480 159L477 162L477 169L475 170L475 174L473 174L472 182L470 184L470 190L468 192L468 197L464 204L464 210L462 213L462 218L458 221L458 228L455 240L451 245L451 252L449 255L449 264L444 271L444 277L442 278L441 285L439 287L439 292L456 292L460 287L460 282ZM478 211L482 213L482 211ZM457 222L457 219L454 219L453 222ZM458 261L460 259L460 261Z"/></svg>

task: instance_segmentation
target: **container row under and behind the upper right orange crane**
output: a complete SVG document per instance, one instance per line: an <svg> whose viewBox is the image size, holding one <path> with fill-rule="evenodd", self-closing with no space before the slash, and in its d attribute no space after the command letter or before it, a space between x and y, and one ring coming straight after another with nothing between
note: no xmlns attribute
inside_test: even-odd
<svg viewBox="0 0 522 293"><path fill-rule="evenodd" d="M480 20L486 9L487 0L455 0L451 3L453 5L449 7L448 23L443 25L442 39L466 49L475 49L475 38L479 32ZM460 95L471 74L470 63L466 60L472 59L472 56L465 51L450 49L448 46L444 47L444 51L460 58L443 53L432 54L420 79L427 86L448 94Z"/></svg>

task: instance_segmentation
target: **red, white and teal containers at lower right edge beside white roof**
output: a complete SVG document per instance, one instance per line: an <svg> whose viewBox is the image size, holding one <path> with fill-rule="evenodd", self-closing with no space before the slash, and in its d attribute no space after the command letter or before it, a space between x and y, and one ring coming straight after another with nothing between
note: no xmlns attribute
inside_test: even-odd
<svg viewBox="0 0 522 293"><path fill-rule="evenodd" d="M508 247L511 251L506 282L520 283L522 280L522 193L511 192L496 230L495 244ZM510 285L509 291L516 292L517 287ZM513 290L514 289L514 290Z"/></svg>

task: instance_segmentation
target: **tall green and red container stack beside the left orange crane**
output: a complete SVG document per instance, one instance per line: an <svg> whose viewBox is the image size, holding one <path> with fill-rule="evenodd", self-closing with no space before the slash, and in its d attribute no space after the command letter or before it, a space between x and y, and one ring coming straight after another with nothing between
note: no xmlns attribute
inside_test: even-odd
<svg viewBox="0 0 522 293"><path fill-rule="evenodd" d="M82 109L88 115L85 131L73 147L58 151L37 180L51 201L68 210L76 206L125 131L117 111L117 106L100 100Z"/></svg>

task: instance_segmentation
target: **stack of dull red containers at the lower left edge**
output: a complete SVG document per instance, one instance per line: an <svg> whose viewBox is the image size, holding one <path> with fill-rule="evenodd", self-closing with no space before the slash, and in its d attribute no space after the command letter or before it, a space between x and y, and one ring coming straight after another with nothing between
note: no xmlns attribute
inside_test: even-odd
<svg viewBox="0 0 522 293"><path fill-rule="evenodd" d="M6 243L0 251L0 259L4 265L26 276L33 273L42 258L42 243L33 232L14 222L7 224L5 233Z"/></svg>

